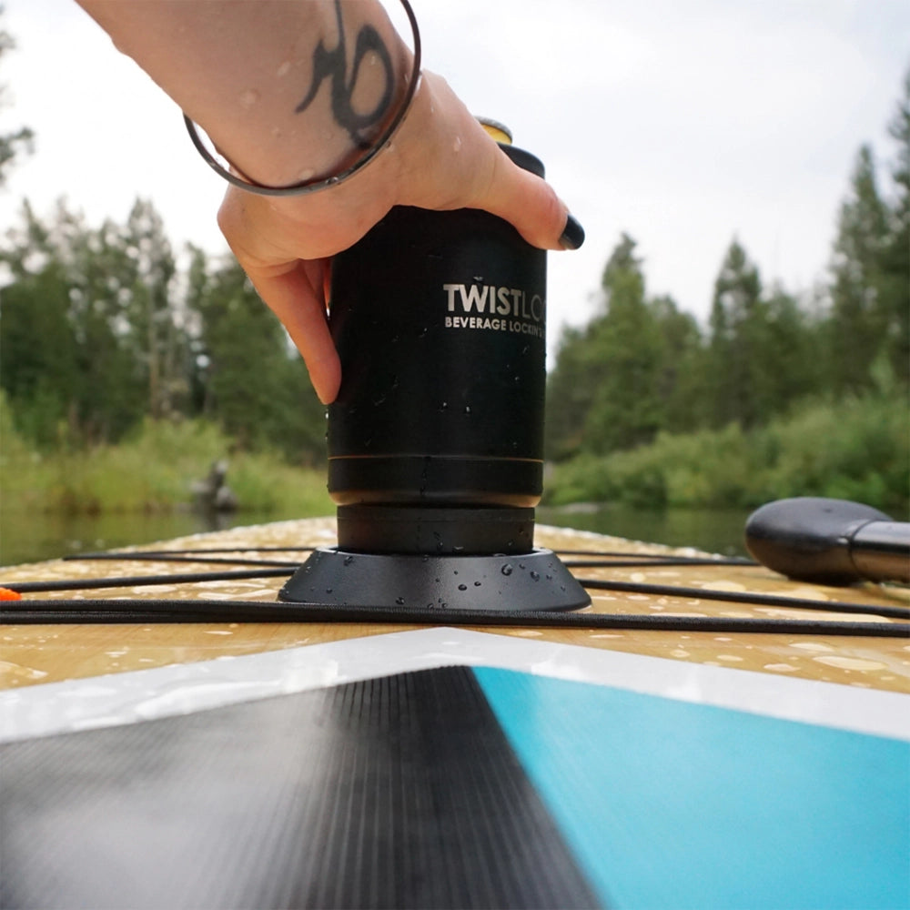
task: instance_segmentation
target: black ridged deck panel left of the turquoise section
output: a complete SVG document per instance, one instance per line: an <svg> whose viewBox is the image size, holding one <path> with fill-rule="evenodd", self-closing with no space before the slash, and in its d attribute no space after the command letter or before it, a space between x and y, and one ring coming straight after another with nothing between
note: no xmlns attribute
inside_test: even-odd
<svg viewBox="0 0 910 910"><path fill-rule="evenodd" d="M473 672L10 743L3 907L591 907Z"/></svg>

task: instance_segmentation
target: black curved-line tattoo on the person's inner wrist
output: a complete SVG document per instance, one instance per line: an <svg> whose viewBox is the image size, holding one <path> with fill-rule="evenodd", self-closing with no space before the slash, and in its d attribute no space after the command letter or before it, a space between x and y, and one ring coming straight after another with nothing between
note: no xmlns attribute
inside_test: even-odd
<svg viewBox="0 0 910 910"><path fill-rule="evenodd" d="M363 130L376 126L389 110L395 82L392 71L392 61L389 49L382 43L379 32L372 25L364 25L357 33L357 45L354 48L353 69L348 76L348 49L345 44L344 26L341 22L341 4L335 0L335 13L338 17L339 43L334 50L328 50L326 45L319 41L319 46L313 52L313 82L309 86L307 96L296 107L296 113L305 111L319 92L319 86L327 78L331 79L332 115L336 123L343 126L355 145L359 148L369 148L371 141L363 135ZM369 53L379 57L379 62L384 70L385 86L382 97L376 106L364 114L359 114L351 106L351 97L357 88L360 74L360 64Z"/></svg>

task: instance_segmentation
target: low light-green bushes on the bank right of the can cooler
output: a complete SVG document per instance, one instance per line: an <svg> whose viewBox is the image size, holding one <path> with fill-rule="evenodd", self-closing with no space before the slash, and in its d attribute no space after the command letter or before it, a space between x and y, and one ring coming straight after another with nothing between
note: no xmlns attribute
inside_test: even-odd
<svg viewBox="0 0 910 910"><path fill-rule="evenodd" d="M551 468L546 502L753 508L792 496L865 502L906 518L910 408L902 395L811 402L744 431L658 436L651 445Z"/></svg>

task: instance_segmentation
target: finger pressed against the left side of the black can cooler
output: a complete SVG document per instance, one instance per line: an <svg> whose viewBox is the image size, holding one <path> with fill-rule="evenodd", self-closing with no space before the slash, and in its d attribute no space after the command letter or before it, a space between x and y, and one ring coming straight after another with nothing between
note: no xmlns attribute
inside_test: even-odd
<svg viewBox="0 0 910 910"><path fill-rule="evenodd" d="M339 393L341 363L329 334L321 275L314 270L313 281L307 275L307 268L312 270L313 265L298 262L281 274L249 277L259 296L288 329L307 364L319 400L330 404Z"/></svg>

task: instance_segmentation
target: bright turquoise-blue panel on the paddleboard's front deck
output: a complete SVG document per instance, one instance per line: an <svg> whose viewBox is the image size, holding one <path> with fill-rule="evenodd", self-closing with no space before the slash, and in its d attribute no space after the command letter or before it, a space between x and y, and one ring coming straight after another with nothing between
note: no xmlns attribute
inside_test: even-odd
<svg viewBox="0 0 910 910"><path fill-rule="evenodd" d="M910 906L910 743L476 673L605 904Z"/></svg>

